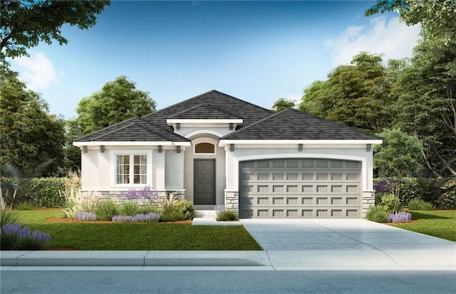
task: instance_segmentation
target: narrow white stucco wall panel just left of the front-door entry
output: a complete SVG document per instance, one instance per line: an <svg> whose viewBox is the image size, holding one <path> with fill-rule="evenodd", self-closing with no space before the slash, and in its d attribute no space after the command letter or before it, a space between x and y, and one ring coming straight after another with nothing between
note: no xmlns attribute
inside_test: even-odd
<svg viewBox="0 0 456 294"><path fill-rule="evenodd" d="M187 152L189 147L177 153L176 150L166 150L165 154L165 165L163 173L165 174L165 187L167 190L185 189L184 185L184 154ZM159 172L156 169L156 172ZM160 169L161 172L161 169Z"/></svg>

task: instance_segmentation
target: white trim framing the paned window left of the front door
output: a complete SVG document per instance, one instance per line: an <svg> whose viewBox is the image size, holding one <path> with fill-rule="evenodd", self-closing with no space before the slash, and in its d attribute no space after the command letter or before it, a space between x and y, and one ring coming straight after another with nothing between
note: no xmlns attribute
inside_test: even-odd
<svg viewBox="0 0 456 294"><path fill-rule="evenodd" d="M118 155L145 155L147 157L147 176L145 184L117 184L117 156ZM144 186L152 187L152 150L140 150L140 149L117 149L111 156L110 165L111 173L111 187L115 188L138 188ZM133 161L130 158L130 181L133 180Z"/></svg>

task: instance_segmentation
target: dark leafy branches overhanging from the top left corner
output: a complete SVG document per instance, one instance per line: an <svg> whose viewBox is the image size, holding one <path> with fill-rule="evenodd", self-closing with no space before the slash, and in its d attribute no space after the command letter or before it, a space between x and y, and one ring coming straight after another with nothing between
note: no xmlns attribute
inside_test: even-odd
<svg viewBox="0 0 456 294"><path fill-rule="evenodd" d="M87 29L110 1L5 0L0 4L0 59L27 55L40 41L68 43L61 27L68 23Z"/></svg>

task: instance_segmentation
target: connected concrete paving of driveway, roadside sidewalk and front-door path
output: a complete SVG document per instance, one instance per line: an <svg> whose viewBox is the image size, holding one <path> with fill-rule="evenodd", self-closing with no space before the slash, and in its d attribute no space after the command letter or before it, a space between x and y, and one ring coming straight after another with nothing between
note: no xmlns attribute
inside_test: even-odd
<svg viewBox="0 0 456 294"><path fill-rule="evenodd" d="M208 225L211 221L195 223ZM455 242L362 219L242 219L230 223L224 225L244 225L264 251L1 251L1 270L33 266L456 273Z"/></svg>

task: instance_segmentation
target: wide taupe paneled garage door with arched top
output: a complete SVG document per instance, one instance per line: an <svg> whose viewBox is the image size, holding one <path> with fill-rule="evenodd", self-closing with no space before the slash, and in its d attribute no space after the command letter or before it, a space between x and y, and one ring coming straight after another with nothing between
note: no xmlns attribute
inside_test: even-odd
<svg viewBox="0 0 456 294"><path fill-rule="evenodd" d="M267 159L239 169L241 218L361 218L361 162Z"/></svg>

